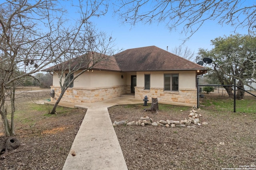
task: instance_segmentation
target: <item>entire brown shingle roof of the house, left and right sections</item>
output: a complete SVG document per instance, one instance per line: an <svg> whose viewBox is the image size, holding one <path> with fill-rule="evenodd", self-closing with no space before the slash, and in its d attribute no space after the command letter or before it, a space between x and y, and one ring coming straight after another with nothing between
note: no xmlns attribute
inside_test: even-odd
<svg viewBox="0 0 256 170"><path fill-rule="evenodd" d="M90 65L91 55L86 54L77 57L71 61L71 68L77 67L78 63L82 63L80 70L86 69ZM102 54L94 53L93 56L95 58L102 57ZM204 74L208 70L204 66L193 63L156 46L128 49L112 57L107 56L107 58L108 60L100 61L92 69L118 72L202 70L198 74ZM70 61L66 61L62 65L65 63L68 64L68 62ZM58 64L46 68L44 71L57 70L57 66L60 68L60 64Z"/></svg>

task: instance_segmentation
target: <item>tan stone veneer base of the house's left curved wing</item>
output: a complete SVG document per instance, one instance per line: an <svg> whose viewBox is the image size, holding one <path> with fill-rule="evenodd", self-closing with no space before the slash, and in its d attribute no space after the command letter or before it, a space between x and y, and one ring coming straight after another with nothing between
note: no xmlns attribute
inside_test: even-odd
<svg viewBox="0 0 256 170"><path fill-rule="evenodd" d="M63 102L71 103L93 103L106 99L119 97L127 92L128 86L113 86L104 88L68 88L62 97ZM59 86L51 86L55 91L55 97L51 101L57 100L60 95Z"/></svg>

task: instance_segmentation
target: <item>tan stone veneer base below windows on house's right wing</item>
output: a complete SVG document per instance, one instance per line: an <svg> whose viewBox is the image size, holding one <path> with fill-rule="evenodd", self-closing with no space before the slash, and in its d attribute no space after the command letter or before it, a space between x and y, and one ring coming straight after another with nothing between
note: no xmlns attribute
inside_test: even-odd
<svg viewBox="0 0 256 170"><path fill-rule="evenodd" d="M164 91L163 88L150 88L150 90L144 90L144 87L135 87L135 98L144 99L148 97L151 102L151 98L158 98L161 102L174 102L177 105L194 106L197 105L197 90L196 89L180 89L178 92Z"/></svg>

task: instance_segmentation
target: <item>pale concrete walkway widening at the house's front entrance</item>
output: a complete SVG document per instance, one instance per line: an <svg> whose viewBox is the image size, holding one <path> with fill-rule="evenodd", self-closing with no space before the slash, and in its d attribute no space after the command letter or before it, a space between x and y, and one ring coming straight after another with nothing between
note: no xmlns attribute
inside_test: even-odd
<svg viewBox="0 0 256 170"><path fill-rule="evenodd" d="M108 107L140 103L143 104L143 101L134 97L84 104L60 102L60 106L87 108L62 170L128 170Z"/></svg>

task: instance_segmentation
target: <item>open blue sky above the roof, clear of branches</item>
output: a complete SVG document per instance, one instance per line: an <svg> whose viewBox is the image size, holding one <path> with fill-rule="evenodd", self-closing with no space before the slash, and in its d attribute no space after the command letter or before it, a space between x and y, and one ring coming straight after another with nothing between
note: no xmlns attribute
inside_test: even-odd
<svg viewBox="0 0 256 170"><path fill-rule="evenodd" d="M168 46L168 51L175 46L180 46L183 43L182 39L187 36L180 34L180 30L170 31L164 23L152 23L144 25L138 23L135 26L122 24L118 17L113 17L113 13L109 12L106 16L94 20L96 28L111 34L115 39L115 44L118 49L126 50L137 47L146 47L155 45L161 49ZM236 33L246 34L248 30L237 29ZM199 48L212 49L210 40L223 35L234 34L234 27L227 25L218 25L217 21L207 21L186 43L184 47L188 47L195 53Z"/></svg>

